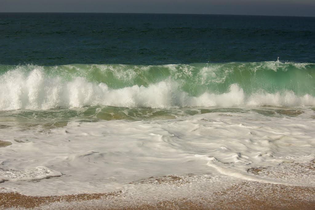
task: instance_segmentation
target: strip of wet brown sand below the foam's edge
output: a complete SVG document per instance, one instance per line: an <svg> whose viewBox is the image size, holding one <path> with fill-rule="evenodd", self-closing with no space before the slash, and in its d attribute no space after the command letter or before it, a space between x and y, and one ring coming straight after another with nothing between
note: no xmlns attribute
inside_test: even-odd
<svg viewBox="0 0 315 210"><path fill-rule="evenodd" d="M192 189L193 190L193 189ZM158 195L150 195L152 197ZM315 209L315 187L276 185L261 182L242 182L197 197L151 202L132 200L128 192L79 194L67 196L25 196L19 193L0 193L4 209L79 209L79 210L142 210L142 209Z"/></svg>

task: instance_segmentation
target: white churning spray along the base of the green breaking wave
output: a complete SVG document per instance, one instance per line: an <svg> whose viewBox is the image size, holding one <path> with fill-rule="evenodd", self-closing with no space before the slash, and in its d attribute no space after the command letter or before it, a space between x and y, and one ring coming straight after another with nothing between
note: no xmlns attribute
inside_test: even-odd
<svg viewBox="0 0 315 210"><path fill-rule="evenodd" d="M315 105L315 97L293 92L257 93L246 95L238 84L223 94L206 91L190 96L170 79L122 89L109 89L104 83L90 83L82 77L65 81L34 67L30 73L15 69L0 77L0 110L47 110L56 107L111 105L124 107L176 108L191 106L304 106Z"/></svg>

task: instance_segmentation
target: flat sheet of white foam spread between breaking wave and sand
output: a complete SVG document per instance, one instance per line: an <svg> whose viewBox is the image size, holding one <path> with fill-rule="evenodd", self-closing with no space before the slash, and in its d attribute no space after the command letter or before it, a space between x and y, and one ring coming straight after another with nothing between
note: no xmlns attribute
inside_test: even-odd
<svg viewBox="0 0 315 210"><path fill-rule="evenodd" d="M295 185L294 180L256 176L247 170L276 168L292 162L307 162L315 157L315 121L309 118L312 110L305 110L293 118L267 117L255 112L222 114L207 113L159 121L71 122L48 132L2 129L2 138L13 142L10 147L1 148L3 172L22 171L21 176L15 172L14 176L32 177L28 180L63 175L41 180L36 185L23 182L23 187L18 185L22 181L5 181L1 187L28 195L137 191L143 186L137 188L128 183L141 179L146 182L152 176L187 174L217 177L211 189L236 180ZM38 165L49 170L39 170ZM283 168L287 174L294 173L289 169ZM40 174L41 171L44 173ZM32 173L40 178L26 175ZM303 180L299 184L314 184L308 182L312 177ZM153 185L147 182L149 186ZM187 196L188 183L182 188L182 193L187 192ZM207 181L198 183L209 187ZM158 189L168 187L159 185Z"/></svg>

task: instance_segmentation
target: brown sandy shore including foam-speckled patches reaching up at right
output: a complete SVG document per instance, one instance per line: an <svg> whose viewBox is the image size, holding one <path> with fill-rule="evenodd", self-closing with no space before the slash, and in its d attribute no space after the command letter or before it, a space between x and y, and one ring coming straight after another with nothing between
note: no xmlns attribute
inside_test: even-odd
<svg viewBox="0 0 315 210"><path fill-rule="evenodd" d="M208 176L190 174L186 177L181 175L150 177L146 180L130 182L129 188L119 191L77 195L30 196L14 191L3 191L6 188L2 187L0 208L7 210L315 210L315 186L299 184L303 176L311 178L315 175L315 160L307 163L284 164L282 167L289 167L296 173L286 174L288 169L281 170L279 167L276 171L272 168L252 168L248 172L276 179L287 176L291 180L291 185L246 181L223 176L221 177L223 182L217 188L218 185ZM189 180L188 178L191 177L195 178ZM224 184L227 179L231 179L232 182ZM200 188L199 182L202 182L203 188ZM161 186L162 190L154 186Z"/></svg>

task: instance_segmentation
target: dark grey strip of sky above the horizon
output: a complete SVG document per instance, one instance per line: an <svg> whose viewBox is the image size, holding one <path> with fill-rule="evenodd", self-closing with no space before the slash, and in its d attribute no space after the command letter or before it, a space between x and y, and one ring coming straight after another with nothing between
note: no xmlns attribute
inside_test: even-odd
<svg viewBox="0 0 315 210"><path fill-rule="evenodd" d="M0 12L315 16L315 0L0 0Z"/></svg>

